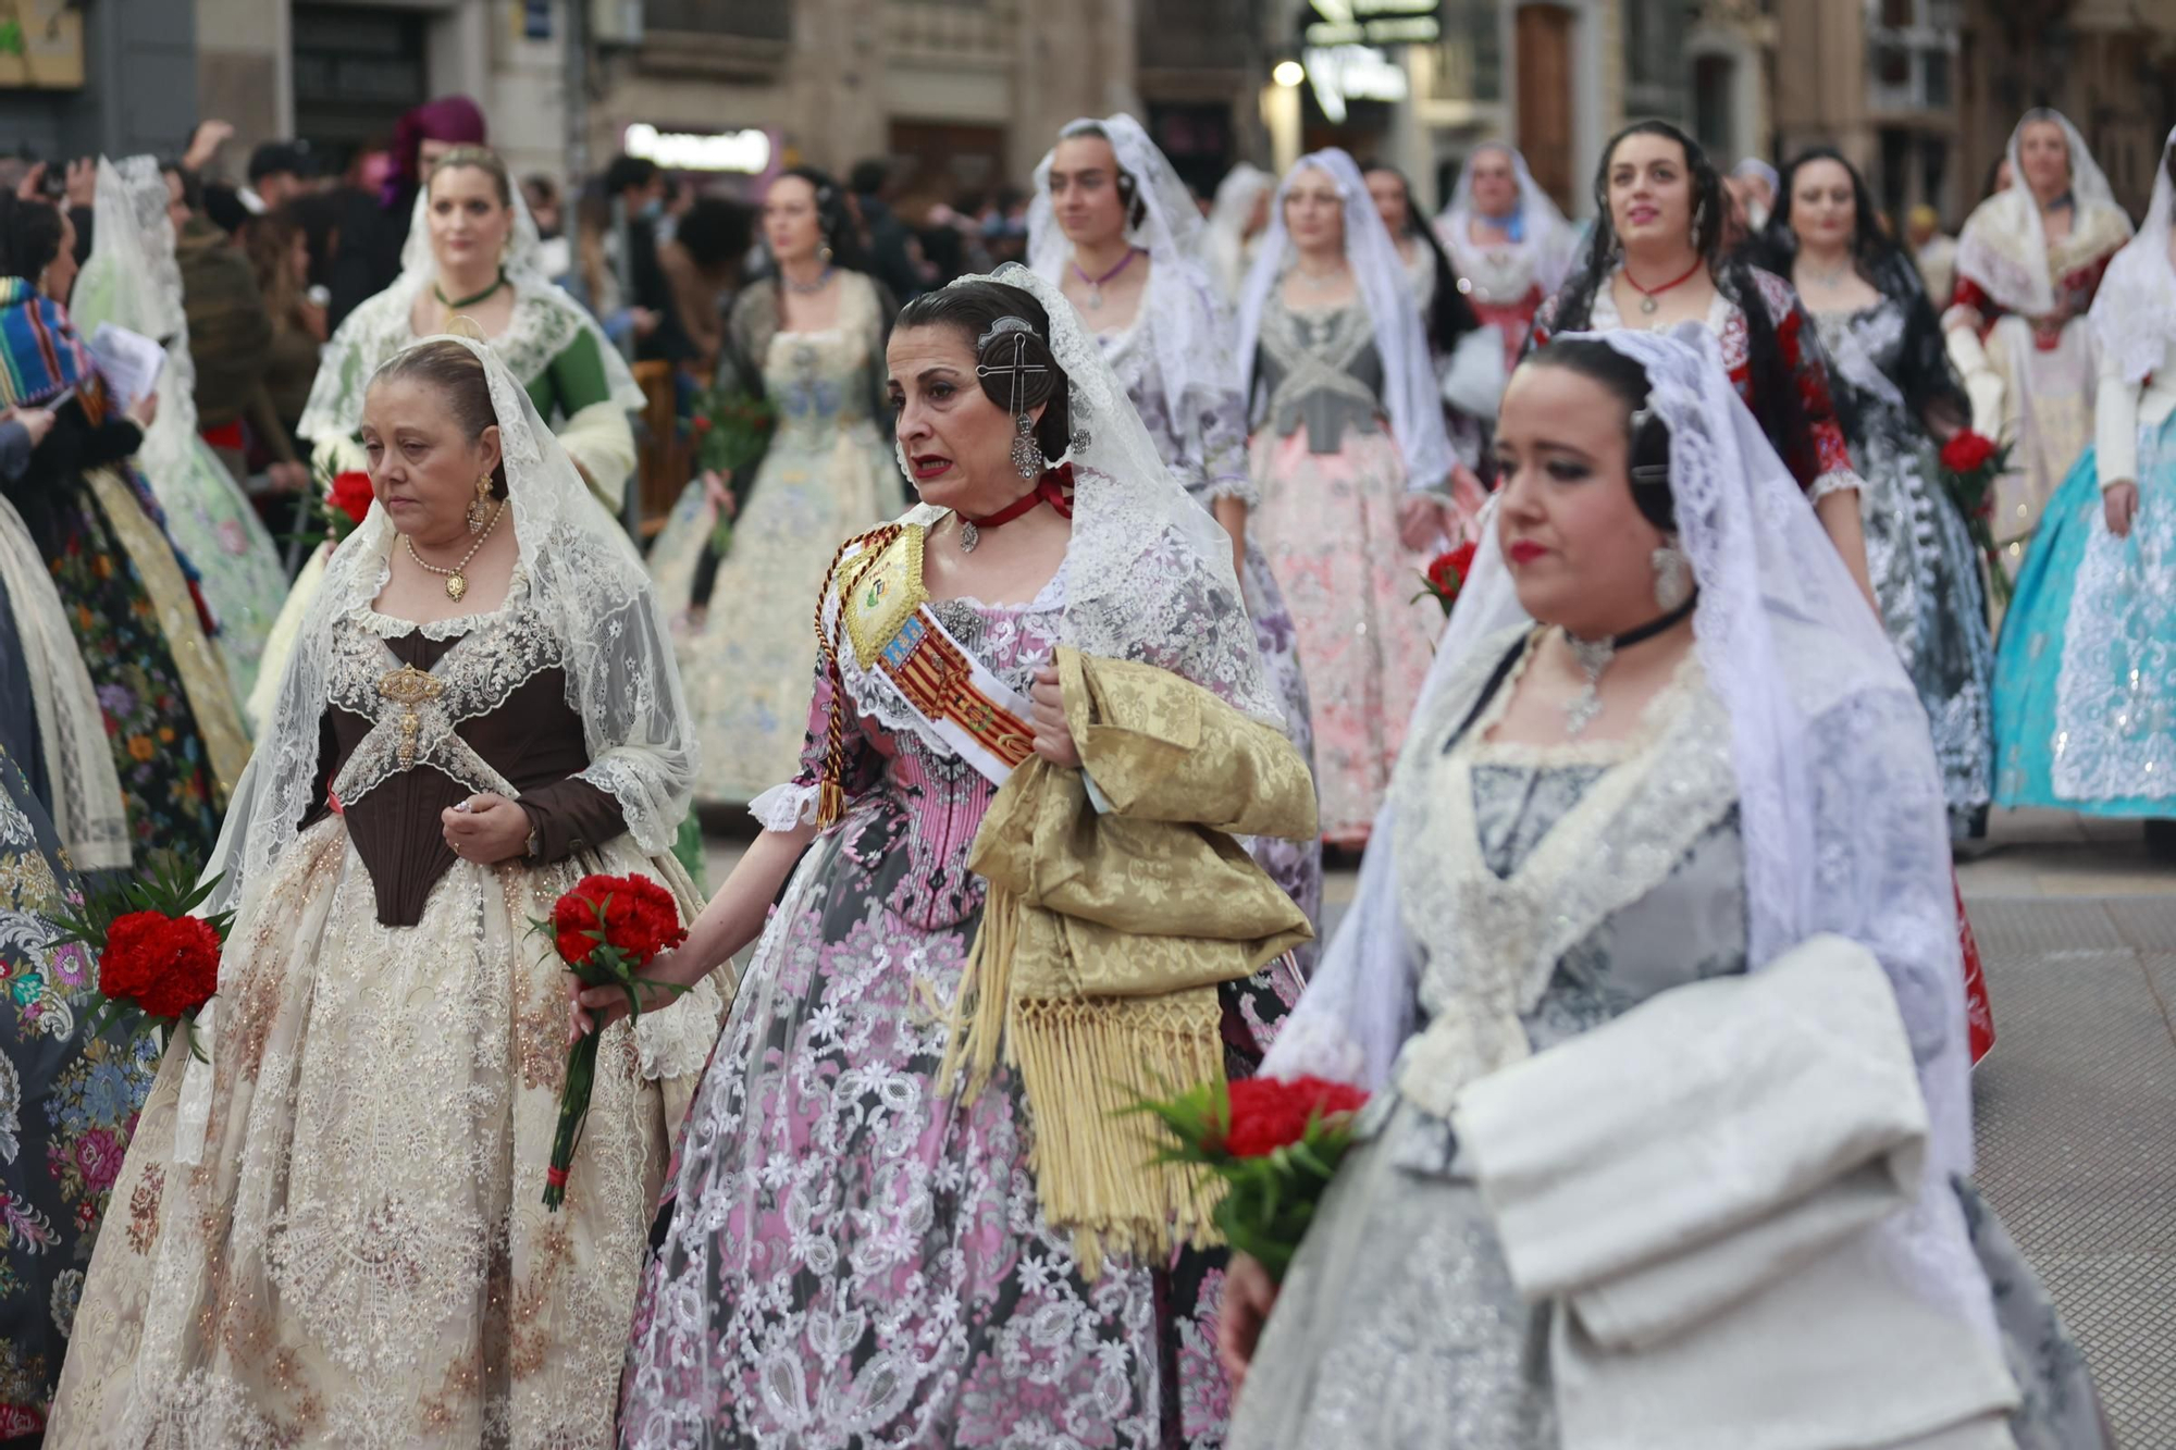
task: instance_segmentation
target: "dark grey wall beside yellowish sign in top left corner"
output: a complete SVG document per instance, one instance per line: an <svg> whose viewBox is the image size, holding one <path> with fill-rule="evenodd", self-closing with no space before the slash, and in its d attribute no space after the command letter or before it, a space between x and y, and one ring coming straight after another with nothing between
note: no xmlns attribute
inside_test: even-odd
<svg viewBox="0 0 2176 1450"><path fill-rule="evenodd" d="M41 157L181 152L196 124L196 9L83 0L83 89L0 89L0 148Z"/></svg>

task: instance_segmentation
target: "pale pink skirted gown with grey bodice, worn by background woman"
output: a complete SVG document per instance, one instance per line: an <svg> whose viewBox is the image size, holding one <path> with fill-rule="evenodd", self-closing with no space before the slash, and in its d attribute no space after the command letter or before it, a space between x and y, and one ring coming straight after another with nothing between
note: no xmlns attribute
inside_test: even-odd
<svg viewBox="0 0 2176 1450"><path fill-rule="evenodd" d="M1271 292L1256 359L1249 538L1284 590L1314 701L1323 840L1364 845L1443 612L1397 533L1406 462L1384 420L1367 305Z"/></svg>

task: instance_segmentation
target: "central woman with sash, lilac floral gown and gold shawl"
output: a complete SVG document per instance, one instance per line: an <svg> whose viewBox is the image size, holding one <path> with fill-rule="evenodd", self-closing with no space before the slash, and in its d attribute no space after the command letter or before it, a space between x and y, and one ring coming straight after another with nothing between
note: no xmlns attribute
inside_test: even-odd
<svg viewBox="0 0 2176 1450"><path fill-rule="evenodd" d="M1223 1276L1173 1256L1192 1215L1108 1108L1260 1058L1295 988L1260 962L1306 925L1221 830L1312 836L1306 764L1229 538L1055 287L1007 268L916 298L890 390L923 505L840 549L801 771L648 973L757 943L688 1119L620 1443L1214 1446ZM1090 692L1138 734L1090 729ZM1112 880L1112 832L1173 890ZM1179 884L1203 847L1225 886ZM1092 964L1081 901L1023 871L1121 890L1116 954ZM1223 917L1238 901L1253 925ZM1088 999L1055 984L1055 932ZM1134 1006L1097 997L1118 960ZM607 1010L583 993L577 1025Z"/></svg>

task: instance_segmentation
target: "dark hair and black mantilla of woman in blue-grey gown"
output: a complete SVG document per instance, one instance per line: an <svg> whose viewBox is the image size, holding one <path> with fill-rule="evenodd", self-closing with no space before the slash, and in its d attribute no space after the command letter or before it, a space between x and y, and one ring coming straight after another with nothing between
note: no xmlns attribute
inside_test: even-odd
<svg viewBox="0 0 2176 1450"><path fill-rule="evenodd" d="M1893 298L1904 309L1904 344L1897 355L1895 383L1904 392L1913 416L1926 418L1930 411L1937 411L1958 425L1967 422L1971 405L1965 401L1965 390L1950 370L1941 316L1937 314L1937 307L1948 303L1948 298L1928 298L1919 268L1904 255L1895 237L1882 229L1874 211L1874 194L1867 189L1867 179L1858 174L1858 168L1843 152L1832 146L1815 146L1782 168L1782 181L1776 187L1776 213L1769 218L1767 231L1756 239L1754 255L1771 272L1791 274L1791 261L1797 257L1797 233L1791 231L1791 194L1797 189L1800 168L1813 161L1834 161L1852 179L1852 268L1869 287ZM1852 379L1839 368L1830 368L1828 383L1837 401L1837 418L1843 422L1847 442L1856 448L1865 438L1860 431L1860 411L1867 398L1860 396Z"/></svg>

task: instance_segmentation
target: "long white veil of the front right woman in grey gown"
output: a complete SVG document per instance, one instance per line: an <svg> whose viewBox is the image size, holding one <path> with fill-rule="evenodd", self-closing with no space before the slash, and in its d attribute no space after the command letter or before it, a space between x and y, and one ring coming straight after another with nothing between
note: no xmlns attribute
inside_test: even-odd
<svg viewBox="0 0 2176 1450"><path fill-rule="evenodd" d="M1919 1065L1930 1150L1919 1202L1878 1232L1908 1282L1993 1337L1987 1278L1948 1187L1971 1171L1971 1097L1950 838L1926 714L1789 468L1739 403L1715 337L1693 322L1667 335L1567 335L1634 357L1652 381L1649 407L1669 427L1680 546L1699 579L1695 649L1730 716L1747 960L1758 971L1819 932L1880 958ZM1484 527L1421 712L1445 686L1478 690L1519 625L1532 618L1495 527ZM1419 729L1408 738L1408 751L1436 745ZM1371 1089L1390 1080L1414 1028L1419 980L1401 921L1395 816L1393 790L1353 906L1266 1073Z"/></svg>

